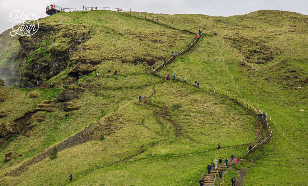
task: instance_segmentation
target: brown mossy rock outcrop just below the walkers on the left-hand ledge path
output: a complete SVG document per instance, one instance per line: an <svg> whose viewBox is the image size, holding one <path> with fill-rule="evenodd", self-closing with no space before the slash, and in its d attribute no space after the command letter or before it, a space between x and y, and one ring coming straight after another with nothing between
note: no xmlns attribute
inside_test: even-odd
<svg viewBox="0 0 308 186"><path fill-rule="evenodd" d="M76 87L69 87L65 90L63 90L56 99L54 99L54 102L64 102L64 101L70 101L75 98L81 98L82 94L85 92L85 89L79 86Z"/></svg>

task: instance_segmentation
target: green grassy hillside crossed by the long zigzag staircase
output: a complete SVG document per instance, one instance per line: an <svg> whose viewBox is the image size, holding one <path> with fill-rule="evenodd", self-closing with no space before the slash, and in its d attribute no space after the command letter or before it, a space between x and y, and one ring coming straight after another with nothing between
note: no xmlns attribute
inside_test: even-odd
<svg viewBox="0 0 308 186"><path fill-rule="evenodd" d="M34 74L34 78L46 78L46 85L55 83L55 89L0 87L1 95L6 95L0 108L10 110L0 118L6 129L9 125L4 124L59 95L50 103L52 112L36 113L44 121L34 117L30 130L1 147L0 157L15 154L9 162L0 162L1 183L198 185L215 158L242 156L250 144L263 140L250 113L206 90L215 86L252 99L252 105L267 113L274 131L269 144L248 156L257 166L247 170L242 184L307 184L302 179L307 171L302 150L308 147L308 16L284 11L230 17L151 15L217 33L215 38L203 36L192 51L160 70L198 80L203 89L148 73L152 65L168 59L171 51L186 48L194 34L112 11L62 12L41 19L40 24L52 28L53 34L41 33L41 41L35 42L20 72L27 74L27 67L37 61L57 63L54 55L63 51L69 55L63 68ZM5 55L1 53L2 59ZM26 80L26 76L21 78ZM61 89L65 82L71 85ZM85 83L85 90L77 87L78 82ZM33 91L39 96L29 98ZM67 105L75 109L65 111ZM99 140L102 133L105 139ZM218 142L222 149L216 149ZM54 145L59 153L51 160L48 150ZM73 182L69 183L70 173Z"/></svg>

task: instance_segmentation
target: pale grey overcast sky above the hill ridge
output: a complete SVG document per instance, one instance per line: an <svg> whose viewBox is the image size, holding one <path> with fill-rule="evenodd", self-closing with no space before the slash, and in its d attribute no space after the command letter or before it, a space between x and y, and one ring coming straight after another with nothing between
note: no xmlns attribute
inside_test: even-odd
<svg viewBox="0 0 308 186"><path fill-rule="evenodd" d="M52 3L63 8L120 7L125 11L132 8L132 11L164 14L230 16L257 10L283 10L308 15L308 0L0 0L0 33L12 28L12 22L9 20L13 10L46 17L45 8Z"/></svg>

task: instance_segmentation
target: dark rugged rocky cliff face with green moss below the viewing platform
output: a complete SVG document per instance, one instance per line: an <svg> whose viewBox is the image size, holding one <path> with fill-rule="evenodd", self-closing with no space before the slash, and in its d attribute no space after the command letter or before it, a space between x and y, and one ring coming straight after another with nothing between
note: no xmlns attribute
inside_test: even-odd
<svg viewBox="0 0 308 186"><path fill-rule="evenodd" d="M33 80L46 81L67 68L68 62L80 43L85 42L90 35L63 32L57 26L40 25L39 31L33 37L19 37L20 43L20 77L26 87ZM65 40L63 44L59 40Z"/></svg>

